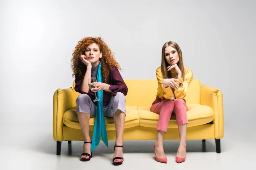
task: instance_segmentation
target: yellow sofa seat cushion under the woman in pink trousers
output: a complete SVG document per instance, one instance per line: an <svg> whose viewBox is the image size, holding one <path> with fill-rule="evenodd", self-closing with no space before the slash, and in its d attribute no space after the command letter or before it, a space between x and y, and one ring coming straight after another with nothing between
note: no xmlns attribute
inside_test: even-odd
<svg viewBox="0 0 256 170"><path fill-rule="evenodd" d="M209 106L192 104L187 105L188 124L187 127L204 125L213 120L213 110ZM159 114L150 111L151 106L139 106L140 126L157 127ZM172 114L168 128L177 128L175 114Z"/></svg>

